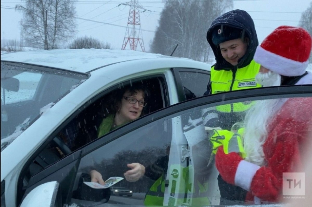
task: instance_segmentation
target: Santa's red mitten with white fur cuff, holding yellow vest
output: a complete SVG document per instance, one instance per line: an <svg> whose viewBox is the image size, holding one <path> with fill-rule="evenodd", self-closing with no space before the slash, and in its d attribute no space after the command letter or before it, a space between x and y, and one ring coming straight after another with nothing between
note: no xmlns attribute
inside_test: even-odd
<svg viewBox="0 0 312 207"><path fill-rule="evenodd" d="M243 160L237 152L225 154L223 146L218 148L215 160L224 181L250 191L251 181L259 166Z"/></svg>

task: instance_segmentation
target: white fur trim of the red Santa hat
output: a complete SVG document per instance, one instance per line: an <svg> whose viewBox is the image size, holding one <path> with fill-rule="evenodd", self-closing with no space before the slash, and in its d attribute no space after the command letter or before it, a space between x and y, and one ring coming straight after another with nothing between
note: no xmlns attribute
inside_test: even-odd
<svg viewBox="0 0 312 207"><path fill-rule="evenodd" d="M290 51L291 52L291 51ZM305 62L298 62L280 55L276 55L270 51L263 49L261 46L257 47L254 60L263 67L285 76L299 76L305 73L308 67L309 60Z"/></svg>

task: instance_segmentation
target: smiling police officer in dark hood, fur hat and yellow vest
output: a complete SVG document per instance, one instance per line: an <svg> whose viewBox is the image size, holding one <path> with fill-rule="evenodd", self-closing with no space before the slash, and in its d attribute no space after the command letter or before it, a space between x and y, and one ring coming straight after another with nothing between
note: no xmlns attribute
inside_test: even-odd
<svg viewBox="0 0 312 207"><path fill-rule="evenodd" d="M207 41L216 63L212 65L204 95L261 87L255 80L260 65L253 60L258 37L254 22L246 11L237 9L214 19L207 31ZM225 104L204 111L205 129L231 130L232 125L241 121L243 112L251 105L252 102ZM221 205L244 201L245 190L227 184L221 176L218 180Z"/></svg>

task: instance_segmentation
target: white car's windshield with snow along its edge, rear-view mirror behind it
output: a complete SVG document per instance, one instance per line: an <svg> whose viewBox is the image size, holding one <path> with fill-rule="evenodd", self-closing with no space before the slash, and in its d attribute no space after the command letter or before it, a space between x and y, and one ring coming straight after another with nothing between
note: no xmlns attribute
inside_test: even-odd
<svg viewBox="0 0 312 207"><path fill-rule="evenodd" d="M1 151L87 75L1 62Z"/></svg>

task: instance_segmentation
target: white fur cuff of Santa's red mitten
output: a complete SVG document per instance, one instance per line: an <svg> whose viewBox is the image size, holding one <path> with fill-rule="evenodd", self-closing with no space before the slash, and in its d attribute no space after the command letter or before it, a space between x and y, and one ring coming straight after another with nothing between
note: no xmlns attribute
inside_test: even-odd
<svg viewBox="0 0 312 207"><path fill-rule="evenodd" d="M235 185L250 191L252 178L260 167L245 160L240 161L235 174Z"/></svg>

